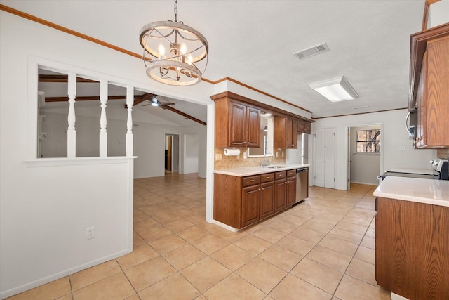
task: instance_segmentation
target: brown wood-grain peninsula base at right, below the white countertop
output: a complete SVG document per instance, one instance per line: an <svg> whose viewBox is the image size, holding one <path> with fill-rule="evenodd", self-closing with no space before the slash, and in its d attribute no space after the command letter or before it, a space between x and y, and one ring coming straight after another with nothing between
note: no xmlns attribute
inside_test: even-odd
<svg viewBox="0 0 449 300"><path fill-rule="evenodd" d="M448 299L449 207L378 197L377 284L410 300Z"/></svg>

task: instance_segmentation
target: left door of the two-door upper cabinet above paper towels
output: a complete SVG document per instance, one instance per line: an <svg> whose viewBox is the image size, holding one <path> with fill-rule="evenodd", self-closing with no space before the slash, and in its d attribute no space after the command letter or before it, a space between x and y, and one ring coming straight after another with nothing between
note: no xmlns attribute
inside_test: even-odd
<svg viewBox="0 0 449 300"><path fill-rule="evenodd" d="M229 145L246 147L246 105L229 102Z"/></svg>

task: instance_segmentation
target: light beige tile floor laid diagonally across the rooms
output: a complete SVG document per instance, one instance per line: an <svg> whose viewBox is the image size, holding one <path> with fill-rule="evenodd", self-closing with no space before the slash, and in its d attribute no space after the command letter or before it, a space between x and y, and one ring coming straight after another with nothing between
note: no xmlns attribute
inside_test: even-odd
<svg viewBox="0 0 449 300"><path fill-rule="evenodd" d="M232 233L205 221L205 179L137 179L133 253L10 299L389 299L374 278L374 189L311 187Z"/></svg>

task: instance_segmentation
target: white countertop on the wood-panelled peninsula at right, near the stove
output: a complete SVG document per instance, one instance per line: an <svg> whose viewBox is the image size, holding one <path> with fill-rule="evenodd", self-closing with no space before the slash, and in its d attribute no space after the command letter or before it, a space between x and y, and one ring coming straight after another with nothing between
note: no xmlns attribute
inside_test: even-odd
<svg viewBox="0 0 449 300"><path fill-rule="evenodd" d="M449 207L449 181L387 176L373 195Z"/></svg>

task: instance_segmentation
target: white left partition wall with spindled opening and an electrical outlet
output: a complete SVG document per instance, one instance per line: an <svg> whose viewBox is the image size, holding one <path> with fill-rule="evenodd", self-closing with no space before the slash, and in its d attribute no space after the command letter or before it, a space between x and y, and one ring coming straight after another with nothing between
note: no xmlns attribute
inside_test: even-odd
<svg viewBox="0 0 449 300"><path fill-rule="evenodd" d="M50 165L25 162L33 155L36 158L36 140L28 138L37 132L37 105L29 104L37 91L37 66L33 62L63 63L74 70L97 72L102 74L100 77L111 77L142 91L203 103L209 106L208 112L213 106L209 98L213 86L201 83L182 91L170 89L149 81L142 61L137 58L4 11L0 11L0 37L0 298L3 299L132 249L132 159L65 159ZM29 93L33 87L35 92ZM213 117L210 118L208 136L213 134ZM135 143L143 141L142 136L154 138L163 154L164 133L152 133L149 129L154 126L139 128ZM136 167L144 154L141 161L138 159ZM212 161L213 155L208 155L208 159ZM163 157L160 160L163 162ZM156 162L146 165L150 174L154 165ZM210 167L206 176L212 176ZM210 203L210 189L207 197ZM85 238L88 226L95 226L93 240Z"/></svg>

